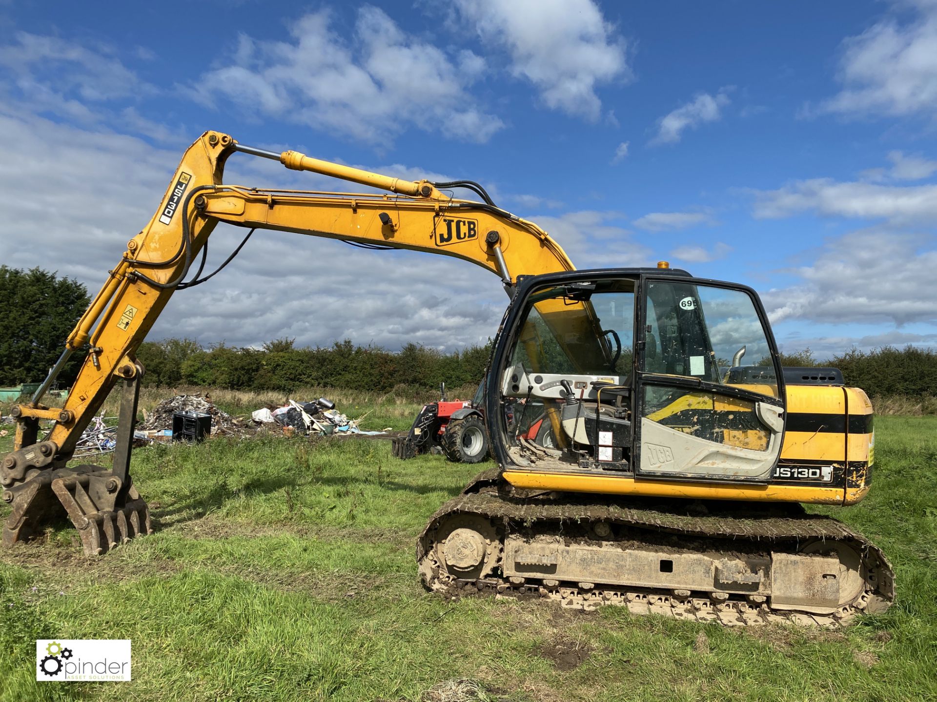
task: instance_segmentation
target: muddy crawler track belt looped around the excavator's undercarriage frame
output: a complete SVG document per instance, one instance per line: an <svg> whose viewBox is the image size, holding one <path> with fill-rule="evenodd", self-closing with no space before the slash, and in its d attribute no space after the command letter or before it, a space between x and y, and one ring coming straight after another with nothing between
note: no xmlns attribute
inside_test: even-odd
<svg viewBox="0 0 937 702"><path fill-rule="evenodd" d="M628 525L653 532L670 534L683 534L686 536L723 538L745 540L749 543L765 544L770 548L772 544L800 543L821 539L825 541L845 542L862 556L867 568L877 574L874 583L867 582L866 597L859 607L842 607L831 617L811 616L788 610L771 610L766 605L751 607L745 603L728 602L712 606L717 612L700 612L699 619L706 621L718 619L725 623L763 623L766 621L795 621L797 623L820 623L824 625L838 625L851 619L859 613L860 607L865 607L869 596L876 596L880 603L888 606L894 600L895 585L894 572L891 564L885 558L882 550L870 543L861 534L856 533L837 519L824 515L808 514L801 505L796 504L729 504L707 503L701 507L692 501L666 501L655 503L653 501L617 500L614 502L596 502L594 496L586 494L567 493L560 497L554 493L530 493L527 496L515 496L505 490L505 483L500 479L497 469L486 471L477 475L463 492L439 507L417 539L417 562L431 557L430 539L432 534L444 517L447 515L465 513L477 514L496 523L507 526L508 522L515 524L532 525L538 521L547 522L592 522L610 521L619 525ZM529 492L529 491L528 491ZM590 499L591 498L591 499ZM721 511L714 511L713 505ZM704 514L688 513L688 510L697 510ZM510 582L503 578L487 578L487 585L497 589L502 595L517 595ZM440 582L427 582L427 587L433 590L455 591L465 590L467 583L456 582L444 584ZM484 584L482 584L484 586ZM528 589L521 588L522 591ZM567 607L588 607L588 603L596 601L602 604L602 595L596 592L580 595L575 587L566 588L563 593L563 605ZM671 592L651 592L648 598L647 591L628 592L625 588L615 587L604 590L604 600L609 599L609 593L616 599L620 594L621 602L627 604L632 611L645 611L649 602L649 611L669 614L679 618L692 618L692 613L700 608L706 610L710 606L698 599L677 600ZM545 596L543 588L541 594ZM576 600L581 600L577 604ZM567 602L566 600L570 600ZM637 607L634 606L637 601ZM721 608L731 608L732 616L725 617L719 614ZM884 607L879 607L884 608ZM741 616L739 616L739 611ZM728 620L728 621L726 621Z"/></svg>

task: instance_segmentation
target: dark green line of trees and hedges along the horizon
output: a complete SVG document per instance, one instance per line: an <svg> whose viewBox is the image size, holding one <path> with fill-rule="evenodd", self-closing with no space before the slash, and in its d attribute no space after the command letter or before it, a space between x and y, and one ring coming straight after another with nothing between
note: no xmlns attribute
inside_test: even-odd
<svg viewBox="0 0 937 702"><path fill-rule="evenodd" d="M42 380L62 353L67 334L88 306L84 285L53 272L0 266L0 386ZM200 385L231 389L302 387L373 389L438 388L478 383L491 341L445 353L419 344L400 351L361 346L346 339L330 346L296 347L277 339L261 348L214 344L190 339L144 342L138 358L150 386ZM624 355L623 355L624 356ZM67 388L84 358L73 355L59 377ZM871 351L850 349L818 360L811 349L781 354L785 366L839 368L847 385L872 397L937 397L937 350L907 345Z"/></svg>

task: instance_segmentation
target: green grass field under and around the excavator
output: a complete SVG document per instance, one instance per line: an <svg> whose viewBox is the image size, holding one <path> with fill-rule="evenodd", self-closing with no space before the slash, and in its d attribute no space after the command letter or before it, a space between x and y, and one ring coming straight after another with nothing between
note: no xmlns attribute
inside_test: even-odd
<svg viewBox="0 0 937 702"><path fill-rule="evenodd" d="M378 400L340 408L409 425L414 403ZM478 466L337 438L140 449L156 534L86 559L63 526L0 552L0 699L443 699L458 679L476 699L937 699L937 417L879 417L876 443L870 497L825 511L885 549L898 602L835 632L445 602L414 541ZM133 681L37 683L45 637L131 638Z"/></svg>

